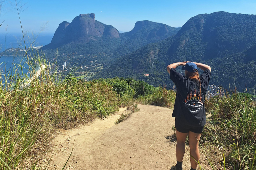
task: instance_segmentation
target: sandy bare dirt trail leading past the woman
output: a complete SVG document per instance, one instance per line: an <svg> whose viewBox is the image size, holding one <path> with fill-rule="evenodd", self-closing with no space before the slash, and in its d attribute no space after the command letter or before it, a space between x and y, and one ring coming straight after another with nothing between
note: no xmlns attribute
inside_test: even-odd
<svg viewBox="0 0 256 170"><path fill-rule="evenodd" d="M73 146L67 170L170 169L176 164L172 110L145 105L138 108L138 112L117 125L114 122L120 114L128 111L97 119L84 127L62 130L54 138L56 150L50 169L62 169ZM190 169L188 151L186 146L184 170ZM201 154L200 160L204 159Z"/></svg>

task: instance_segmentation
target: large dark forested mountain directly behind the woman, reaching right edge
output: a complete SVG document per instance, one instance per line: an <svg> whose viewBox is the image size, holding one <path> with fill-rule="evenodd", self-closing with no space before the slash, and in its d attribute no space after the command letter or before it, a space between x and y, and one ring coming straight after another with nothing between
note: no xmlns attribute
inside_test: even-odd
<svg viewBox="0 0 256 170"><path fill-rule="evenodd" d="M190 18L173 37L126 55L97 75L133 77L170 88L166 66L179 61L212 67L210 84L256 89L256 15L215 12ZM180 72L182 70L178 68ZM145 77L143 74L150 74ZM252 89L253 90L253 89Z"/></svg>

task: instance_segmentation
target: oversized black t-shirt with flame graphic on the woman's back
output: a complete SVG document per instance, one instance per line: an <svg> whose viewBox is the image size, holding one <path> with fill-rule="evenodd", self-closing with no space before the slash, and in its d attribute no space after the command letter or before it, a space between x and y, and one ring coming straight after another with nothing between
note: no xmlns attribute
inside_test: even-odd
<svg viewBox="0 0 256 170"><path fill-rule="evenodd" d="M186 78L171 68L170 78L177 89L172 117L176 117L177 121L191 127L201 127L206 124L204 101L210 77L209 69L201 74L200 96L199 81Z"/></svg>

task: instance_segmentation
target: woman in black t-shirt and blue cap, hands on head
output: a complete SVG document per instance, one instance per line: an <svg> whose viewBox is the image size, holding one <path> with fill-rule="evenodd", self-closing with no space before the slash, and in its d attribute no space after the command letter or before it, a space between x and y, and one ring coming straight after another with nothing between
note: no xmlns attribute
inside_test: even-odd
<svg viewBox="0 0 256 170"><path fill-rule="evenodd" d="M185 76L175 70L179 65L185 70ZM201 76L197 67L204 70ZM196 62L177 62L167 66L170 78L174 82L177 93L172 117L175 117L176 128L176 159L177 164L171 170L182 170L182 160L185 153L185 141L189 137L191 170L196 170L199 161L199 139L206 124L204 108L211 67Z"/></svg>

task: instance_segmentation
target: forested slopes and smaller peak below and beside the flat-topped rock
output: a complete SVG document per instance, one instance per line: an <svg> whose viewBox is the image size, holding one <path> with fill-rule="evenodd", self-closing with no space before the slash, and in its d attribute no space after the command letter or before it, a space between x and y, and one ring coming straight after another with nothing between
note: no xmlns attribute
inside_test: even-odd
<svg viewBox="0 0 256 170"><path fill-rule="evenodd" d="M145 26L137 26L141 22L145 22ZM165 30L165 27L168 31L161 32L161 30ZM78 29L82 28L78 27ZM74 40L74 42L58 46L57 49L50 47L50 44L42 49L51 62L67 62L70 65L79 63L78 66L94 66L101 63L108 65L148 43L159 42L174 36L179 30L180 28L173 28L161 23L139 21L132 31L120 34L120 38L97 36L88 42Z"/></svg>

